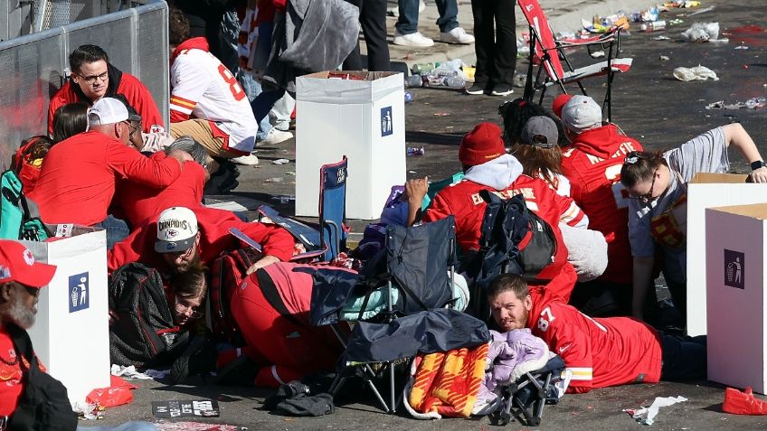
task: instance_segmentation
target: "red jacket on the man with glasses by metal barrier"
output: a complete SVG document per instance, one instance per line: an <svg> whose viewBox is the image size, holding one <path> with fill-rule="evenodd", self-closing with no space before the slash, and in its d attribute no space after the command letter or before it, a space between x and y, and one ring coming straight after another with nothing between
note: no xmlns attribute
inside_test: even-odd
<svg viewBox="0 0 767 431"><path fill-rule="evenodd" d="M122 94L128 100L133 108L136 108L138 115L141 116L141 126L144 132L164 132L166 122L160 115L159 109L155 104L155 99L147 87L130 73L118 70L118 68L108 63L109 71L109 89L106 97L112 97L115 94ZM91 105L90 100L86 99L80 87L77 84L67 80L61 89L51 98L51 104L48 107L48 133L53 133L53 113L56 109L68 103L85 102Z"/></svg>

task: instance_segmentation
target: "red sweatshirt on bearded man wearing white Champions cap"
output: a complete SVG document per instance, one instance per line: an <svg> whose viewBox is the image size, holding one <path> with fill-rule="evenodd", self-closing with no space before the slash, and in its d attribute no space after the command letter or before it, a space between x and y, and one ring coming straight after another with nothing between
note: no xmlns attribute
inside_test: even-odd
<svg viewBox="0 0 767 431"><path fill-rule="evenodd" d="M223 251L242 248L239 239L229 233L229 228L237 228L263 247L265 255L271 255L280 260L289 260L293 255L295 241L288 230L277 225L258 222L244 222L231 211L215 210L202 206L190 208L197 216L200 227L200 254L205 266L210 267L215 258ZM148 223L134 230L127 239L115 245L107 253L109 272L129 262L141 262L149 267L155 267L160 272L166 272L167 264L160 253L155 251L157 238L157 214Z"/></svg>

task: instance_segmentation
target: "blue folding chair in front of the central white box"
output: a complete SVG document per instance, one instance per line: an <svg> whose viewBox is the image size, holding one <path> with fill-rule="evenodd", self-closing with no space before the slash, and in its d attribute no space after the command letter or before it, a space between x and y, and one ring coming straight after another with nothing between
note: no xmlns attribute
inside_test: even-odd
<svg viewBox="0 0 767 431"><path fill-rule="evenodd" d="M288 230L301 243L304 252L291 260L320 260L329 262L346 250L346 155L336 164L325 164L319 169L319 223L310 226L299 220L279 214L269 205L256 211L259 221L269 219Z"/></svg>

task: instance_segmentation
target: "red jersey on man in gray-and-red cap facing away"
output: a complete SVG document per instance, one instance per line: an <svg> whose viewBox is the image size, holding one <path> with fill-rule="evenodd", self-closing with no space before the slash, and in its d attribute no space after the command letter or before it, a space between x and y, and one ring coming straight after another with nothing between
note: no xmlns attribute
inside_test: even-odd
<svg viewBox="0 0 767 431"><path fill-rule="evenodd" d="M589 229L607 240L607 269L600 280L631 284L633 260L629 246L629 195L620 183L623 159L642 151L636 139L621 135L614 125L587 130L563 151L562 171L570 195L589 216Z"/></svg>

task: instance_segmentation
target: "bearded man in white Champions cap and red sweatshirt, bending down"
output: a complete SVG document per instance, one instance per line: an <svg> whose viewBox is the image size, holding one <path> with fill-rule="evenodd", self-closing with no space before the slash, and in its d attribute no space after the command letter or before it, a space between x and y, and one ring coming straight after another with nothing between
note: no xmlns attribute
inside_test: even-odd
<svg viewBox="0 0 767 431"><path fill-rule="evenodd" d="M107 256L109 271L135 261L155 267L165 275L210 267L224 251L243 247L229 233L230 228L241 230L263 247L263 258L253 264L248 274L280 260L289 260L293 254L293 237L277 225L246 223L231 211L203 206L191 210L173 207L115 245Z"/></svg>

